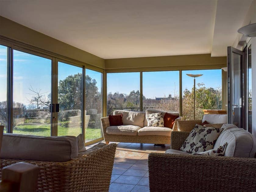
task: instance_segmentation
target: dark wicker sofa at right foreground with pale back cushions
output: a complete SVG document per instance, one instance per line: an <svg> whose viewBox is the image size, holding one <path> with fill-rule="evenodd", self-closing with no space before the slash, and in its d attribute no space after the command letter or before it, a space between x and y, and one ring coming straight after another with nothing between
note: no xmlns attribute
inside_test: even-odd
<svg viewBox="0 0 256 192"><path fill-rule="evenodd" d="M168 153L148 157L150 190L255 191L256 139L234 125L224 126L215 143L228 143L224 157L186 155L179 150L190 132L173 131Z"/></svg>

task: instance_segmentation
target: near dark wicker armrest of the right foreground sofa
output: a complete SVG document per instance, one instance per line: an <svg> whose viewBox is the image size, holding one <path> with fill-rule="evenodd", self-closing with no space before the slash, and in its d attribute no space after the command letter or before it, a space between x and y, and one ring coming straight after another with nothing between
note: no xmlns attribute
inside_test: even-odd
<svg viewBox="0 0 256 192"><path fill-rule="evenodd" d="M255 191L256 158L151 153L150 191Z"/></svg>

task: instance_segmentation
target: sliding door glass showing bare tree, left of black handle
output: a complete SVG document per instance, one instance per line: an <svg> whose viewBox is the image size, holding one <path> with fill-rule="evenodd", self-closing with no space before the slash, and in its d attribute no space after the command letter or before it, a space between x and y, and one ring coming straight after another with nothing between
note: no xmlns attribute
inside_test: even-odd
<svg viewBox="0 0 256 192"><path fill-rule="evenodd" d="M51 135L52 60L13 50L13 133Z"/></svg>

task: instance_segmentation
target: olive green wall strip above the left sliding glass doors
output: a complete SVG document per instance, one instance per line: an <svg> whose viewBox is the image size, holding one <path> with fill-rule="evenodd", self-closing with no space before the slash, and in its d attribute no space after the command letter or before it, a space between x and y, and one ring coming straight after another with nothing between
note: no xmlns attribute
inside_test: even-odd
<svg viewBox="0 0 256 192"><path fill-rule="evenodd" d="M0 16L0 35L105 69L104 59Z"/></svg>

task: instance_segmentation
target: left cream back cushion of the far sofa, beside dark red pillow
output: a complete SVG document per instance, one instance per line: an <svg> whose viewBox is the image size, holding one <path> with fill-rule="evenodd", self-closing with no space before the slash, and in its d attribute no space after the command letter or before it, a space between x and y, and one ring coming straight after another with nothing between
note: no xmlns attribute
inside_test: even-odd
<svg viewBox="0 0 256 192"><path fill-rule="evenodd" d="M144 126L145 113L144 112L133 112L124 110L115 110L113 115L123 115L122 120L124 125L135 125L139 127ZM148 125L148 123L147 123Z"/></svg>

